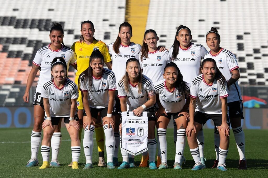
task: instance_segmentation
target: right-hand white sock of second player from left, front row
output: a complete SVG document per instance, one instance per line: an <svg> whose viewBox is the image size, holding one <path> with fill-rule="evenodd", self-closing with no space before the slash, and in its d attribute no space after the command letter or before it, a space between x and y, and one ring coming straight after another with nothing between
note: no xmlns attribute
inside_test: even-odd
<svg viewBox="0 0 268 178"><path fill-rule="evenodd" d="M108 124L103 125L104 134L105 134L105 146L106 146L106 154L107 154L107 163L113 163L114 157L114 146L116 140L114 138L114 129L110 125L110 129L108 129Z"/></svg>

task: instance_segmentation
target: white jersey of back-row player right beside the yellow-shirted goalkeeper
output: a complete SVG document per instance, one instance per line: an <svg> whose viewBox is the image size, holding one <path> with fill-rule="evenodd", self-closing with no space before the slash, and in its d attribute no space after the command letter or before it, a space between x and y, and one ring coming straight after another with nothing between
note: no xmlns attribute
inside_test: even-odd
<svg viewBox="0 0 268 178"><path fill-rule="evenodd" d="M114 43L111 43L109 47L109 53L113 61L112 71L116 75L116 82L118 83L126 72L126 61L134 57L138 59L138 54L142 46L131 42L128 46L120 45L119 54L116 54L113 50Z"/></svg>

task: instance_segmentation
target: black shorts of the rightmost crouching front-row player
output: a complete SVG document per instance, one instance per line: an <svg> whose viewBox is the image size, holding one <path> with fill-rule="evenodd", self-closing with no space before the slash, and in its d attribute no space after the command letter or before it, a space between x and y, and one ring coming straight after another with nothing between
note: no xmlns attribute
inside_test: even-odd
<svg viewBox="0 0 268 178"><path fill-rule="evenodd" d="M194 121L198 122L202 126L206 124L206 122L212 119L215 126L221 126L222 124L222 114L207 114L199 111L195 112ZM229 116L227 115L227 124L230 126Z"/></svg>

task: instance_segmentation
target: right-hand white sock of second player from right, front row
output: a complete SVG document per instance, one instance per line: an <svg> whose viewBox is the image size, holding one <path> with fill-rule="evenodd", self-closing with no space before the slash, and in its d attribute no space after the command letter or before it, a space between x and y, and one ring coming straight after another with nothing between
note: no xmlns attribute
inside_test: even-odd
<svg viewBox="0 0 268 178"><path fill-rule="evenodd" d="M175 163L181 163L181 158L183 157L183 152L185 148L185 136L186 136L185 129L177 130Z"/></svg>

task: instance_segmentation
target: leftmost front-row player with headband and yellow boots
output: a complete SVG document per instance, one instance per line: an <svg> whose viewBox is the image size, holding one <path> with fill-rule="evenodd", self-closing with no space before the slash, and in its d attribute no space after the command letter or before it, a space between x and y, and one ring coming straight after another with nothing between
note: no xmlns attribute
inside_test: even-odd
<svg viewBox="0 0 268 178"><path fill-rule="evenodd" d="M80 141L78 137L79 122L75 119L76 99L78 98L77 85L66 77L67 65L62 57L55 57L51 64L51 80L46 82L41 90L46 118L43 122L43 140L41 154L43 165L39 169L49 168L50 139L61 118L71 137L73 169L78 169L80 156Z"/></svg>

